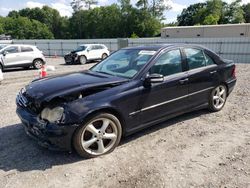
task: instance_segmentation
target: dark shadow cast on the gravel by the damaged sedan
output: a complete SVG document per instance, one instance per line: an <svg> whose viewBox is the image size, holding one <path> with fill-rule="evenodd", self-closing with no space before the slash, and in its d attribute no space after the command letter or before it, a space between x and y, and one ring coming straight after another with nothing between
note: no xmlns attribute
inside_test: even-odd
<svg viewBox="0 0 250 188"><path fill-rule="evenodd" d="M151 126L150 128L123 138L120 146L147 134L205 113L208 113L208 111L195 111ZM26 135L21 124L0 128L0 170L6 172L10 170L20 172L32 170L44 171L53 166L75 163L82 160L86 159L79 157L75 152L55 152L40 147Z"/></svg>

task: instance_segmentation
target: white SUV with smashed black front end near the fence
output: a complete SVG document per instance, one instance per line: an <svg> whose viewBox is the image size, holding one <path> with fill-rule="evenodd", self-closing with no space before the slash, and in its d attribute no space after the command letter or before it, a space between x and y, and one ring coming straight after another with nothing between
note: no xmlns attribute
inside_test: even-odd
<svg viewBox="0 0 250 188"><path fill-rule="evenodd" d="M103 60L109 56L108 48L103 44L83 44L64 56L66 64L85 64L92 60Z"/></svg>

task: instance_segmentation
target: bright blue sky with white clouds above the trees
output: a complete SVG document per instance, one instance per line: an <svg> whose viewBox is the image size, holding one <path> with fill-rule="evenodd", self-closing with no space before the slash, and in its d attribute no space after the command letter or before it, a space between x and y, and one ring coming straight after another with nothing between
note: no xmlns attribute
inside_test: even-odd
<svg viewBox="0 0 250 188"><path fill-rule="evenodd" d="M191 4L203 2L205 0L165 0L167 5L172 7L171 10L166 11L164 22L171 23L176 21L177 15L181 13L183 8L188 7ZM233 0L224 0L225 2L232 2ZM6 16L11 10L20 10L22 8L34 8L48 5L54 9L57 9L62 16L71 16L72 8L70 6L71 0L0 0L0 15ZM117 0L98 0L98 6L110 5L116 3ZM136 0L131 0L135 4ZM250 3L250 0L242 0L242 2Z"/></svg>

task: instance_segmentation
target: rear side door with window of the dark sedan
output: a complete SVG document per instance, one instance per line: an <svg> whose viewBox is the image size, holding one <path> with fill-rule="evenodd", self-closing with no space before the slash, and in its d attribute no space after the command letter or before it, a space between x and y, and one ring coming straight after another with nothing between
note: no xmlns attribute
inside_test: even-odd
<svg viewBox="0 0 250 188"><path fill-rule="evenodd" d="M199 106L208 102L211 90L219 83L217 65L200 48L183 49L188 71L189 105Z"/></svg>

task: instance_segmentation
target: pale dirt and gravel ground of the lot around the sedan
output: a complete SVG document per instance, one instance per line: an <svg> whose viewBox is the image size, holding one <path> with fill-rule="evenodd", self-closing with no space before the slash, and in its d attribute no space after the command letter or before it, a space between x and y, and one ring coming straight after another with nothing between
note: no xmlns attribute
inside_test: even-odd
<svg viewBox="0 0 250 188"><path fill-rule="evenodd" d="M57 68L53 74L91 66L65 66L62 59L49 62ZM15 97L35 75L34 70L8 71L0 85L1 188L250 188L250 64L237 65L237 86L221 112L182 115L89 160L48 151L26 136L15 114Z"/></svg>

